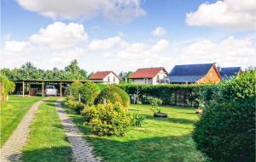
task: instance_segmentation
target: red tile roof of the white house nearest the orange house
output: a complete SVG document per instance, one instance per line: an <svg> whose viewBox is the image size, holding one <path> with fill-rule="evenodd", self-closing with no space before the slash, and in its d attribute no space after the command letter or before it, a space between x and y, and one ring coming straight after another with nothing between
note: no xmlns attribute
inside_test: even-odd
<svg viewBox="0 0 256 162"><path fill-rule="evenodd" d="M130 78L131 79L137 79L137 78L154 78L155 75L157 75L160 70L164 70L165 72L166 69L163 67L160 68L142 68L142 69L138 69L137 71L135 71Z"/></svg>

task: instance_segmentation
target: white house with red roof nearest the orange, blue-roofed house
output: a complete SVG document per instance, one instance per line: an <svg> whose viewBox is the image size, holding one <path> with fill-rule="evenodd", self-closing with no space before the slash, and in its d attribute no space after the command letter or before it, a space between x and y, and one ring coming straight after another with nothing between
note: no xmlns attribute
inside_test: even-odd
<svg viewBox="0 0 256 162"><path fill-rule="evenodd" d="M165 68L142 68L136 70L130 76L131 82L135 84L159 85L168 83L168 73Z"/></svg>

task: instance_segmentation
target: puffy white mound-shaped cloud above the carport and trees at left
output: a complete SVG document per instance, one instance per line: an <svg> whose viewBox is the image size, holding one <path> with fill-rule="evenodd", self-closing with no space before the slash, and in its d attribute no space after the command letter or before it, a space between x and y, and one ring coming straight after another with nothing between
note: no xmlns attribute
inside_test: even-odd
<svg viewBox="0 0 256 162"><path fill-rule="evenodd" d="M30 36L30 42L40 46L63 48L72 47L78 42L88 40L87 33L84 31L84 26L69 23L68 25L55 22L48 25L45 29L40 29L37 34Z"/></svg>

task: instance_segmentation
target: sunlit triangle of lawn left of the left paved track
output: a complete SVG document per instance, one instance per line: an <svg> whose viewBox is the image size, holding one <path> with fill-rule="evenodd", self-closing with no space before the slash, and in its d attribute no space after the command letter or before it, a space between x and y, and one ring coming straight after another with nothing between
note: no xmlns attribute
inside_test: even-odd
<svg viewBox="0 0 256 162"><path fill-rule="evenodd" d="M9 101L1 103L1 140L0 146L9 138L15 128L19 125L20 120L26 115L28 109L31 108L32 103L37 102L40 97L26 97L9 96Z"/></svg>

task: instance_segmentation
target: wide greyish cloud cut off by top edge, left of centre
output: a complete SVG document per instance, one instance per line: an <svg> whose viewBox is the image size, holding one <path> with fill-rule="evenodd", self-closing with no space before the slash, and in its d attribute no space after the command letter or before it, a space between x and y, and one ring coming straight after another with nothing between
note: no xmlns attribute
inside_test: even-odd
<svg viewBox="0 0 256 162"><path fill-rule="evenodd" d="M67 20L103 16L113 22L127 22L146 14L141 0L17 0L21 7L46 17Z"/></svg>

